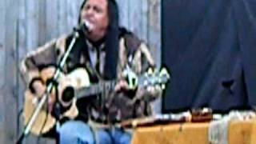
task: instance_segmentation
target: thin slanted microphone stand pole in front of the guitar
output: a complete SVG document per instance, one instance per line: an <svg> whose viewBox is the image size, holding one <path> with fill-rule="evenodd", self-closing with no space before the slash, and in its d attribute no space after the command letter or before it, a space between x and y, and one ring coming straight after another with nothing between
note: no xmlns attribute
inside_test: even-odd
<svg viewBox="0 0 256 144"><path fill-rule="evenodd" d="M74 43L76 42L76 39L79 37L78 31L74 30L74 36L72 38L72 41L70 42L70 46L68 47L68 49L66 50L60 64L58 65L57 70L54 72L54 78L53 81L51 81L47 86L46 86L46 92L42 95L42 98L40 99L40 101L38 102L38 106L36 107L36 109L34 110L33 114L30 117L29 122L27 122L25 129L22 131L22 135L18 138L18 141L16 142L16 144L22 144L23 139L30 134L30 130L34 124L34 121L36 120L36 118L38 117L38 114L40 112L40 110L42 109L42 106L44 105L44 103L46 102L46 100L49 97L49 94L51 93L51 90L54 87L54 82L57 82L59 75L61 74L62 68L64 66L64 64L66 63L66 59L68 58L68 56L70 55L71 50L74 47Z"/></svg>

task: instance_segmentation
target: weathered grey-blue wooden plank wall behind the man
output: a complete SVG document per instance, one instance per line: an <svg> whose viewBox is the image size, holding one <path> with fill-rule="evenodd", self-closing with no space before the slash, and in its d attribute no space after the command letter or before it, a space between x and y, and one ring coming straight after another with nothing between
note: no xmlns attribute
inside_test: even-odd
<svg viewBox="0 0 256 144"><path fill-rule="evenodd" d="M160 64L161 0L117 0L120 22L150 46ZM26 53L77 24L82 0L0 0L0 143L14 143L22 131L24 83L18 64ZM25 143L37 143L30 135ZM54 143L40 138L38 143Z"/></svg>

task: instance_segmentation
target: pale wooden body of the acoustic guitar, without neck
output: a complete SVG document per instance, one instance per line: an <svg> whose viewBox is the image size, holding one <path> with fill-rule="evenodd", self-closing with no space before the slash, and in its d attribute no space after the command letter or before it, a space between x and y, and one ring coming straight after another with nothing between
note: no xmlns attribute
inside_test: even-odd
<svg viewBox="0 0 256 144"><path fill-rule="evenodd" d="M89 74L84 68L78 68L72 71L70 74L61 74L59 79L59 86L72 86L74 89L78 89L83 86L90 86L90 78ZM52 90L52 93L49 95L49 98L52 101L55 101L55 90ZM30 117L34 114L34 110L36 109L40 97L34 95L30 92L30 90L26 90L25 92L25 102L23 108L23 117L25 126L29 122ZM53 102L54 103L54 102ZM76 98L72 100L72 104L69 110L67 110L62 117L75 118L78 115L78 109L75 106ZM51 115L50 111L52 110L51 106L43 106L42 110L40 110L38 117L36 118L30 132L32 134L40 135L46 134L49 130L51 130L55 123L56 118Z"/></svg>

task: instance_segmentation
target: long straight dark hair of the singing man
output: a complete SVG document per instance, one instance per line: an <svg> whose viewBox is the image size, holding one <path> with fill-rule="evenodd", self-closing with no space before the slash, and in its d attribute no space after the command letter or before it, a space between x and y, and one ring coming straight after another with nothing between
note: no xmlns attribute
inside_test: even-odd
<svg viewBox="0 0 256 144"><path fill-rule="evenodd" d="M119 15L118 4L115 0L106 0L108 6L109 26L106 32L106 60L104 68L104 76L106 79L114 79L117 77L118 64L118 35L119 35ZM79 10L78 24L81 22L81 10L87 0L82 2Z"/></svg>

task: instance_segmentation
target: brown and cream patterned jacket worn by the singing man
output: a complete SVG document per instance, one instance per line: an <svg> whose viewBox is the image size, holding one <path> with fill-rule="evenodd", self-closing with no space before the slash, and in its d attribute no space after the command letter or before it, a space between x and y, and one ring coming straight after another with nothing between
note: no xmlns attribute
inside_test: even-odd
<svg viewBox="0 0 256 144"><path fill-rule="evenodd" d="M67 45L66 38L67 36L62 36L61 38L54 39L26 55L26 58L21 62L21 71L27 86L30 85L33 78L39 76L42 67L56 65L60 58L62 58ZM134 50L132 57L129 55L130 50ZM80 64L86 64L86 62L86 58L81 57L79 59ZM128 64L136 74L144 73L149 66L154 67L154 60L146 44L130 33L123 34L119 38L118 78L122 78L122 71L125 70ZM66 62L63 69L64 72L67 73L72 65L72 61ZM102 102L98 102L98 98L89 100L90 102L78 100L78 108L81 109L79 114L82 117L87 117L89 114L90 118L102 122L143 117L150 114L149 102L159 95L161 95L161 90L149 92L139 87L137 90L129 93L112 92L107 94Z"/></svg>

